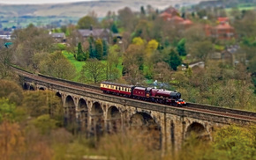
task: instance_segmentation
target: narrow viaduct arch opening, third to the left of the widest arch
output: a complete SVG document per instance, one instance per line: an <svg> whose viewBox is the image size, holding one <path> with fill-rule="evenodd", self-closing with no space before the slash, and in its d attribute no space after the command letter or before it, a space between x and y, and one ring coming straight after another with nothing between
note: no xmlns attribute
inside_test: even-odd
<svg viewBox="0 0 256 160"><path fill-rule="evenodd" d="M88 106L87 101L83 98L79 99L78 104L78 122L82 131L87 131L88 127Z"/></svg>

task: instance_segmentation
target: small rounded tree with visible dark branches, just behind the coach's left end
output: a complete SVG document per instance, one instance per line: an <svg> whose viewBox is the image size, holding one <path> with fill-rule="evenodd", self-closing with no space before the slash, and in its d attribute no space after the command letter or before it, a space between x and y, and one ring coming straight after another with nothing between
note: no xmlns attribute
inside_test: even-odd
<svg viewBox="0 0 256 160"><path fill-rule="evenodd" d="M102 62L97 59L89 59L81 69L79 81L93 81L96 84L106 77L105 74L105 65Z"/></svg>

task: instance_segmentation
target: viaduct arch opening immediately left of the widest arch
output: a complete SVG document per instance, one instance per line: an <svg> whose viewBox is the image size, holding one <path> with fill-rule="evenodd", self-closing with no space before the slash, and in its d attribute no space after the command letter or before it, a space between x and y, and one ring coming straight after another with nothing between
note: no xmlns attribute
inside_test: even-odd
<svg viewBox="0 0 256 160"><path fill-rule="evenodd" d="M107 113L107 130L109 133L117 133L120 130L122 122L121 122L121 113L118 110L117 106L112 105L108 109Z"/></svg>

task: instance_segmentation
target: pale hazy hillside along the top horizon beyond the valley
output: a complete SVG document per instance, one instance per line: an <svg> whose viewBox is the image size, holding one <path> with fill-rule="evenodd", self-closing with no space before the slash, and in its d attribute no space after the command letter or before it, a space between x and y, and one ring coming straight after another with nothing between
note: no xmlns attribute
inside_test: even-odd
<svg viewBox="0 0 256 160"><path fill-rule="evenodd" d="M105 0L79 2L71 4L0 4L0 17L24 16L56 16L81 18L90 11L95 11L98 17L104 17L108 11L118 11L130 7L132 11L139 11L141 6L150 4L153 8L162 10L169 5L198 4L201 0Z"/></svg>

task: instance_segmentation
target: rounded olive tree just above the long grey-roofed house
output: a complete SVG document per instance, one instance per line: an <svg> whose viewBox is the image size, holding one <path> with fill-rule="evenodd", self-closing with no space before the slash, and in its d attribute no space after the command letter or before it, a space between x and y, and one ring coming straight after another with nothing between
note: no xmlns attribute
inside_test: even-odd
<svg viewBox="0 0 256 160"><path fill-rule="evenodd" d="M83 18L80 18L78 21L79 29L90 29L90 27L96 25L98 25L97 19L91 16L85 16Z"/></svg>

